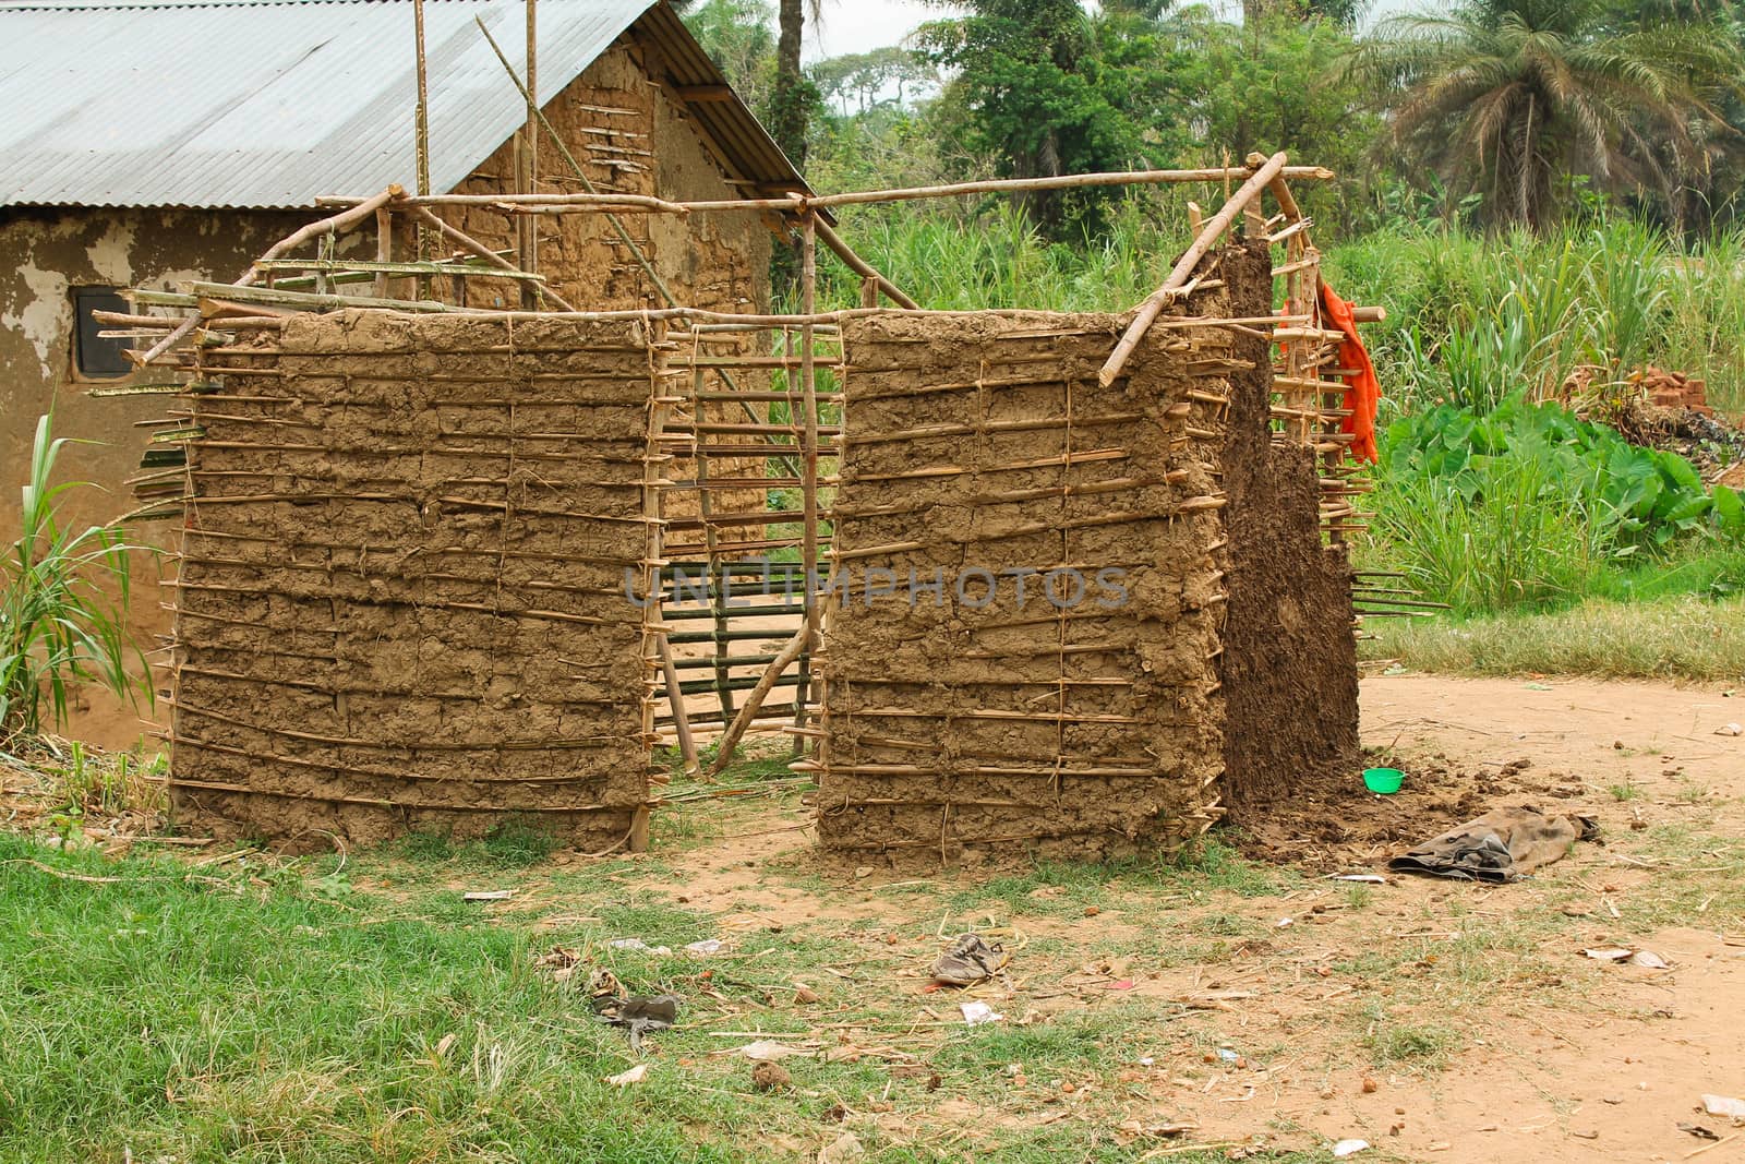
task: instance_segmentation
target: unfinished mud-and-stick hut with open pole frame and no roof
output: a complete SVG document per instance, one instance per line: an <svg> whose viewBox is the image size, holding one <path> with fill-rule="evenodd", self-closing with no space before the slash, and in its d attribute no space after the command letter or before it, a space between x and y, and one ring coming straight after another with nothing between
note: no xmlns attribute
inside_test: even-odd
<svg viewBox="0 0 1745 1164"><path fill-rule="evenodd" d="M820 845L857 859L1167 848L1347 763L1354 370L1288 185L1321 176L1277 154L1038 180L1241 183L1119 316L925 311L825 218L1026 185L989 181L715 201L391 188L332 199L258 279L113 318L180 373L159 433L185 450L178 810L356 839L527 813L588 848L640 846L651 750L672 740L695 770L708 696L717 770L747 729L790 731ZM476 307L469 281L539 272L454 225L462 257L398 257L405 227L455 204L773 215L801 239L803 309ZM380 258L337 258L359 227ZM864 307L815 311L820 243L862 274ZM337 286L365 274L368 297ZM400 298L394 281L454 293ZM764 504L780 487L797 511ZM707 585L675 586L679 548ZM770 551L797 558L799 593L747 604ZM700 621L712 649L686 658L675 640ZM771 633L780 649L736 646ZM688 682L686 663L714 675ZM792 695L770 707L778 684Z"/></svg>

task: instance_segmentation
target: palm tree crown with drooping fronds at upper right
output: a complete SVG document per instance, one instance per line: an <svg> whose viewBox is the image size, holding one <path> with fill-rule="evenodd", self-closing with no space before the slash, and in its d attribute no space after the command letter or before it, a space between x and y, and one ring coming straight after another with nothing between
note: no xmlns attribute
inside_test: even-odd
<svg viewBox="0 0 1745 1164"><path fill-rule="evenodd" d="M1632 21L1607 0L1464 0L1386 21L1356 65L1380 82L1394 143L1499 223L1543 227L1558 180L1653 185L1668 201L1701 162L1715 99L1740 87L1738 47L1714 23Z"/></svg>

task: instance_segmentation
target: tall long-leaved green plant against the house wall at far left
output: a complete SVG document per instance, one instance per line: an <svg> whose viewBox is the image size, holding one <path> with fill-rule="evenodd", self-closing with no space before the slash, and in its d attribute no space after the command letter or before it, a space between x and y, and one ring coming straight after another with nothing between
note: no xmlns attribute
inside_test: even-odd
<svg viewBox="0 0 1745 1164"><path fill-rule="evenodd" d="M37 421L21 532L0 560L0 749L66 719L73 688L96 682L138 705L150 700L145 654L126 630L129 546L117 525L63 529L59 499L87 482L52 483L66 447ZM138 663L138 667L129 667Z"/></svg>

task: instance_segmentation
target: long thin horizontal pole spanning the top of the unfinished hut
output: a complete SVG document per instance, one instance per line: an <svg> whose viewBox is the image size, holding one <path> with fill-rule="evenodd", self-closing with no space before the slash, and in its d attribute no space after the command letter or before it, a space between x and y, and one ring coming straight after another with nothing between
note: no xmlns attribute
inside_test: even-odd
<svg viewBox="0 0 1745 1164"><path fill-rule="evenodd" d="M485 33L487 37L490 33ZM1244 166L1208 168L1208 169L1134 169L1094 175L1059 175L1052 178L993 178L986 181L956 181L935 187L902 187L885 190L850 190L846 194L799 194L792 197L770 199L715 199L696 202L663 202L661 199L637 199L623 194L539 194L525 199L510 199L501 194L443 194L421 199L426 206L562 206L576 211L597 211L600 206L637 208L653 213L698 213L698 211L817 211L832 206L862 206L867 202L911 202L930 197L956 197L960 194L1003 194L1016 190L1071 190L1078 187L1117 187L1117 185L1162 185L1174 181L1227 181L1246 178L1251 171ZM1286 178L1307 178L1326 181L1337 178L1331 169L1321 166L1286 166L1281 169ZM323 195L316 199L323 206L344 206L351 199Z"/></svg>

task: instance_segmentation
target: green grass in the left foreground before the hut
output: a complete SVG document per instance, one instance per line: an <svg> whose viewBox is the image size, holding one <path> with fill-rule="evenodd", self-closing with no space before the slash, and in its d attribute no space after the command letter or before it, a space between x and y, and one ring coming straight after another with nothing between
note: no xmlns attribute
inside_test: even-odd
<svg viewBox="0 0 1745 1164"><path fill-rule="evenodd" d="M517 859L520 852L513 848ZM1044 1106L1059 1094L1054 1080L1094 1080L1103 1094L1110 1075L1138 1056L1211 1038L1174 1031L1183 1016L1162 1000L1112 998L1023 1023L1012 1003L1000 1026L923 1033L937 1082L925 1072L893 1073L879 1058L801 1059L792 1089L756 1092L743 1059L715 1054L743 1037L715 1031L799 1040L815 1038L820 1023L860 1021L860 1042L913 1044L920 1007L955 1009L949 996L923 1000L902 984L932 956L932 935L916 934L937 916L930 902L914 900L920 918L893 920L893 930L818 923L738 932L729 951L698 960L607 944L642 937L677 949L721 934L708 914L639 888L647 871L630 864L600 862L562 885L553 881L572 871L506 874L508 883L555 890L564 916L466 904L440 887L394 897L373 890L389 880L417 883L429 866L452 869L455 860L492 857L483 843L424 836L344 864L337 855L286 864L248 855L202 869L162 857L106 860L0 834L0 1159L810 1161L838 1134L827 1119L838 1103L859 1112L890 1105L913 1122L956 1094L1017 1117L977 1129L975 1159L1117 1164L1152 1145L1113 1143L1103 1117L1068 1126L1023 1117L1054 1110ZM1153 881L1220 894L1227 890L1213 890L1215 880L1253 885L1234 873L1241 862L1232 855L1215 860L1211 869L1136 867L1115 878L1141 897L1155 892ZM1040 871L1037 881L1091 878ZM679 1026L649 1038L642 1084L606 1082L635 1059L619 1031L592 1017L579 988L537 967L553 946L581 951L583 972L602 965L630 989L684 1000ZM1035 939L1021 956L1028 972L1061 974L1084 953ZM845 965L848 979L820 970ZM824 993L822 1010L792 1005L801 979ZM1014 1063L1028 1085L1007 1073ZM925 1140L855 1127L869 1162L972 1150L949 1127Z"/></svg>

